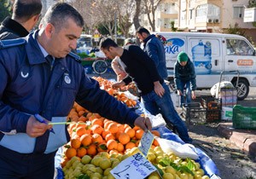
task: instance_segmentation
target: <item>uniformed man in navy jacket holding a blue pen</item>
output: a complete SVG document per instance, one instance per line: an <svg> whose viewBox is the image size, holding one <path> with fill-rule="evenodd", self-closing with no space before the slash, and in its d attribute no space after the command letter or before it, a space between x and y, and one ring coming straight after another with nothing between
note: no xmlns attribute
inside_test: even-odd
<svg viewBox="0 0 256 179"><path fill-rule="evenodd" d="M54 177L55 153L70 136L67 125L47 123L66 122L74 101L102 117L151 130L149 118L108 95L84 73L79 56L71 53L83 26L76 9L55 3L40 30L15 39L23 43L0 43L0 178ZM46 124L38 122L39 115Z"/></svg>

